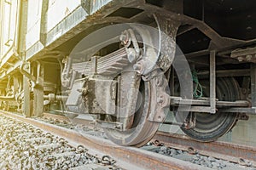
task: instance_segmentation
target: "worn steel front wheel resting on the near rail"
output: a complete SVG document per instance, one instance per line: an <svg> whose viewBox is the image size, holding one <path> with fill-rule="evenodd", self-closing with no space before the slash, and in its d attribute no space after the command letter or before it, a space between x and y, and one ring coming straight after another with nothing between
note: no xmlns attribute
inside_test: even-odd
<svg viewBox="0 0 256 170"><path fill-rule="evenodd" d="M105 128L104 131L115 144L142 146L146 144L158 130L159 122L149 122L150 98L154 88L150 82L141 82L140 92L143 94L143 102L139 110L135 113L134 122L131 129L119 131ZM138 99L139 100L139 99ZM137 102L141 103L141 102Z"/></svg>

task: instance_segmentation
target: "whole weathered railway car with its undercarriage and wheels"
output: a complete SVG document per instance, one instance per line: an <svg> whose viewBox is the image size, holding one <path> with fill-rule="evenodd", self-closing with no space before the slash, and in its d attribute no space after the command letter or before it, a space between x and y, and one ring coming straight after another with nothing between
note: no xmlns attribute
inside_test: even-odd
<svg viewBox="0 0 256 170"><path fill-rule="evenodd" d="M256 113L252 0L0 4L4 110L92 114L109 139L137 146L151 139L166 114L176 121L164 123L211 141ZM74 53L78 47L85 54ZM178 60L186 62L180 67ZM187 64L191 71L184 71Z"/></svg>

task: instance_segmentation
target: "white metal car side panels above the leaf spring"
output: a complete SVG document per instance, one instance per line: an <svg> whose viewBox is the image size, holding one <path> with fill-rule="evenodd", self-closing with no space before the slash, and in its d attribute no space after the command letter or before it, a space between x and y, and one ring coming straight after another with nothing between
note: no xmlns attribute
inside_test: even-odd
<svg viewBox="0 0 256 170"><path fill-rule="evenodd" d="M81 28L80 25L86 23L87 16L96 14L96 11L108 6L112 1L28 0L28 6L32 6L28 11L31 13L30 10L33 10L35 14L28 15L28 18L34 19L30 19L26 33L26 60L34 56L40 57L40 54L45 54L45 50L52 50L63 41L72 38L70 35L75 35L74 32L83 31L85 28ZM87 4L88 8L84 4ZM40 6L41 8L37 10ZM41 13L41 17L37 18L36 12ZM102 18L102 15L99 17Z"/></svg>

